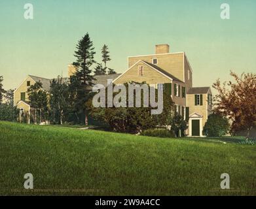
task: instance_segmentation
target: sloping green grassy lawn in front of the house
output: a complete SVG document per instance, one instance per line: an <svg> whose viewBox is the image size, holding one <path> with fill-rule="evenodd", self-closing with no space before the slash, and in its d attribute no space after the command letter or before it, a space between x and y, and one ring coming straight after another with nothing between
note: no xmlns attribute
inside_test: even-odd
<svg viewBox="0 0 256 209"><path fill-rule="evenodd" d="M0 122L0 195L256 195L256 146L231 142Z"/></svg>

